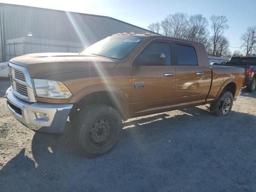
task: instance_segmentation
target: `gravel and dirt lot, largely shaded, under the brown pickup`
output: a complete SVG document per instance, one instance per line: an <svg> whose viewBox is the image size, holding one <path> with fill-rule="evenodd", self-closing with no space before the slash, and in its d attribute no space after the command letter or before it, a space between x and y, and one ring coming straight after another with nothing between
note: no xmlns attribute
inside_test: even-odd
<svg viewBox="0 0 256 192"><path fill-rule="evenodd" d="M0 191L256 191L256 92L226 117L208 105L130 119L117 146L78 157L70 125L35 133L10 115L0 80Z"/></svg>

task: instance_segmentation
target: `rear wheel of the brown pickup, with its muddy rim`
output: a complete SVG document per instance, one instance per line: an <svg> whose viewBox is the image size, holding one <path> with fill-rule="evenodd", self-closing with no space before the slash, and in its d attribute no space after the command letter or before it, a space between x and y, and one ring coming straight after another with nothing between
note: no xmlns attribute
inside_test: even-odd
<svg viewBox="0 0 256 192"><path fill-rule="evenodd" d="M233 95L229 91L223 91L218 99L210 104L210 113L214 116L226 116L233 106Z"/></svg>

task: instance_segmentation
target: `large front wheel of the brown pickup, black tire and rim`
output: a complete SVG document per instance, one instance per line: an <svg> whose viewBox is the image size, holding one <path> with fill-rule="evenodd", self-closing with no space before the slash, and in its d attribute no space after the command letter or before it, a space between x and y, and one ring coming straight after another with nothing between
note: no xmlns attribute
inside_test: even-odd
<svg viewBox="0 0 256 192"><path fill-rule="evenodd" d="M93 104L80 110L72 125L77 153L93 158L108 153L117 143L122 118L112 107Z"/></svg>

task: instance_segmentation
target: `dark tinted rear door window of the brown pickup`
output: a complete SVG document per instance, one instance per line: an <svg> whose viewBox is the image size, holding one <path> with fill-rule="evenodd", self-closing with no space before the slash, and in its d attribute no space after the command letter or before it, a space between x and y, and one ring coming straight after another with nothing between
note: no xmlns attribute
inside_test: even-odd
<svg viewBox="0 0 256 192"><path fill-rule="evenodd" d="M175 52L178 65L198 65L194 47L175 45Z"/></svg>

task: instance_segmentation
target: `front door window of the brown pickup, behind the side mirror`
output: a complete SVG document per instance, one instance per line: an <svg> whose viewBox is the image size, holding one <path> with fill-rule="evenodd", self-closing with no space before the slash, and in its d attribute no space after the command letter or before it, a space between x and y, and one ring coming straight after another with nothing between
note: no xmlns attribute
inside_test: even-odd
<svg viewBox="0 0 256 192"><path fill-rule="evenodd" d="M164 66L171 64L169 43L157 42L146 46L135 61L137 66Z"/></svg>

